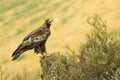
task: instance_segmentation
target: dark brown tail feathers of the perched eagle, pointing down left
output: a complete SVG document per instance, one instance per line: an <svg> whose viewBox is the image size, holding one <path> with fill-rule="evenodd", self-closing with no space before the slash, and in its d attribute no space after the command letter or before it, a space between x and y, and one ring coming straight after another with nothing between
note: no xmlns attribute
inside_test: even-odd
<svg viewBox="0 0 120 80"><path fill-rule="evenodd" d="M23 49L23 44L20 44L18 48L12 54L12 61L16 60L25 50Z"/></svg>

